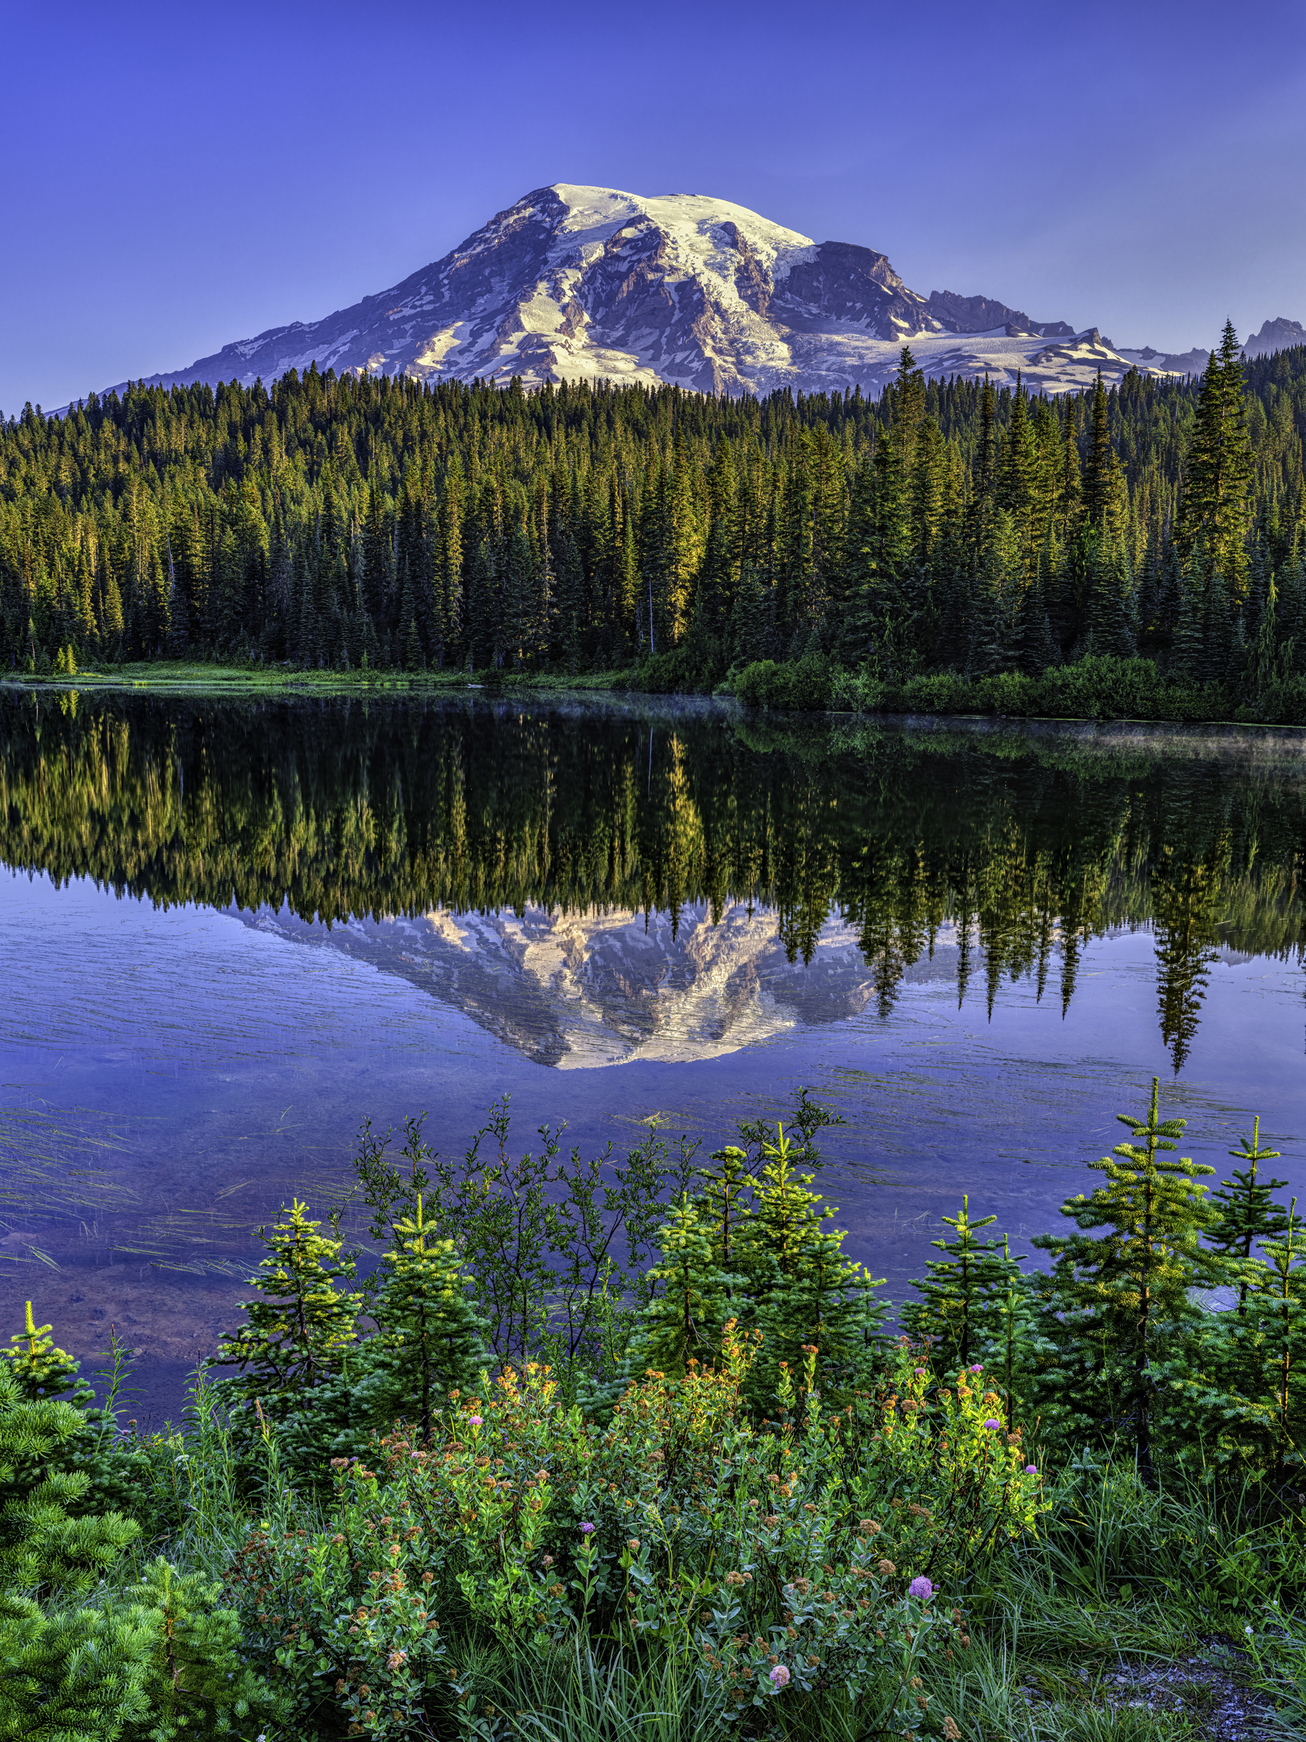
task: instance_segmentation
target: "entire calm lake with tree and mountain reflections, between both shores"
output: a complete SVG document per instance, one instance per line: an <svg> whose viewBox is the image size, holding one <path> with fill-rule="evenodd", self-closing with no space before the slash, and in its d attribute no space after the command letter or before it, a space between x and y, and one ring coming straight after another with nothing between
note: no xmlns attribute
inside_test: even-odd
<svg viewBox="0 0 1306 1742"><path fill-rule="evenodd" d="M0 1310L176 1415L364 1118L502 1094L716 1148L806 1085L899 1294L963 1192L1054 1226L1153 1075L1306 1197L1304 854L1289 735L0 692Z"/></svg>

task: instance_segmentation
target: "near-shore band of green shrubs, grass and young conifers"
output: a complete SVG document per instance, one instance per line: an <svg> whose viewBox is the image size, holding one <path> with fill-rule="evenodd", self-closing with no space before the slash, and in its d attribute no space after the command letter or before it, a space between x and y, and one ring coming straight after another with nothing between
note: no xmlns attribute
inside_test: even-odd
<svg viewBox="0 0 1306 1742"><path fill-rule="evenodd" d="M30 1315L0 1737L1301 1735L1306 1239L1259 1125L1208 1186L1153 1085L1045 1266L963 1198L893 1319L827 1124L364 1129L179 1428Z"/></svg>

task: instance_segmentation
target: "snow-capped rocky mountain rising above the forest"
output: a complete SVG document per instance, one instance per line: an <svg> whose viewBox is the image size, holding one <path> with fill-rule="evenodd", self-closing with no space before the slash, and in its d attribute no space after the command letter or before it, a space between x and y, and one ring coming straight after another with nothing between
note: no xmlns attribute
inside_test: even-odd
<svg viewBox="0 0 1306 1742"><path fill-rule="evenodd" d="M730 200L555 183L378 296L150 380L252 385L315 362L420 380L517 375L528 387L876 394L904 343L932 376L1020 371L1047 392L1085 387L1099 368L1107 380L1130 366L1174 373L1172 359L1118 352L1095 327L1031 321L984 296L921 296L885 254L813 242Z"/></svg>

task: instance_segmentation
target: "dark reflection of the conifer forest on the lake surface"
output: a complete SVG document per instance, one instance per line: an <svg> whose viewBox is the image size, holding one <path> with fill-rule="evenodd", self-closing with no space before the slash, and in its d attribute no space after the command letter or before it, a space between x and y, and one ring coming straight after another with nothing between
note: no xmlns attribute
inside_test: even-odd
<svg viewBox="0 0 1306 1742"><path fill-rule="evenodd" d="M1175 1068L1214 951L1296 955L1306 786L1210 758L773 732L508 702L0 702L0 859L160 904L305 920L528 904L773 908L791 960L841 915L888 1010L956 927L959 993L1151 925Z"/></svg>

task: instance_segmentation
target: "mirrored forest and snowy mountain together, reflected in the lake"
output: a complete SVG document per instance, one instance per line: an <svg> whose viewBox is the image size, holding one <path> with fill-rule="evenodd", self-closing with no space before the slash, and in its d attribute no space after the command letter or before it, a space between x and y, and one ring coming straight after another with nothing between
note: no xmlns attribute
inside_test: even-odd
<svg viewBox="0 0 1306 1742"><path fill-rule="evenodd" d="M235 908L531 1059L712 1057L1148 925L1175 1071L1215 953L1301 956L1292 744L714 707L0 697L0 861ZM322 925L326 922L326 927Z"/></svg>

